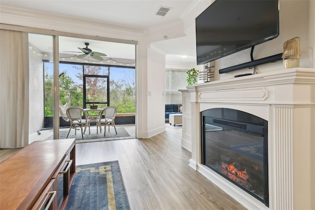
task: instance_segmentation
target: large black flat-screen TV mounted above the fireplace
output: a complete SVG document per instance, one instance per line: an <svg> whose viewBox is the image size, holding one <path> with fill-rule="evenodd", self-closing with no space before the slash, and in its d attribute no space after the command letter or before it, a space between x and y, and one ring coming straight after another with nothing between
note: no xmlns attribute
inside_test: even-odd
<svg viewBox="0 0 315 210"><path fill-rule="evenodd" d="M195 21L201 65L276 38L278 0L216 0Z"/></svg>

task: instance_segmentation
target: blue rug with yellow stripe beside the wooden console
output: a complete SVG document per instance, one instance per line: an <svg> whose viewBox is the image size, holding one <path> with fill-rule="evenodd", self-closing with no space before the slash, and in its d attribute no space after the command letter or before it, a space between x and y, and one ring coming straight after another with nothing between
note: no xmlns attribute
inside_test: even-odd
<svg viewBox="0 0 315 210"><path fill-rule="evenodd" d="M130 210L118 161L76 167L67 210Z"/></svg>

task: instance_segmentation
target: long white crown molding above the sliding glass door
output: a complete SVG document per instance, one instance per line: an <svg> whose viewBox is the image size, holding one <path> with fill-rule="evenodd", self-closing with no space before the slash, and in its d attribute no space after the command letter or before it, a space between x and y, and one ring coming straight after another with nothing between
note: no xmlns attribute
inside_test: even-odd
<svg viewBox="0 0 315 210"><path fill-rule="evenodd" d="M115 25L46 12L1 6L0 23L85 35L139 40L143 28Z"/></svg>

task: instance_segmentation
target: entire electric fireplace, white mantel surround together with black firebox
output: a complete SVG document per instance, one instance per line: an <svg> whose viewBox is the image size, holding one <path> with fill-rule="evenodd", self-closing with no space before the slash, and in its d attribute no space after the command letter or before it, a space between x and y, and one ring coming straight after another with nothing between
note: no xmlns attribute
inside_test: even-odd
<svg viewBox="0 0 315 210"><path fill-rule="evenodd" d="M187 86L183 95L182 145L191 142L187 148L191 149L192 169L247 209L315 209L315 69L276 69ZM215 111L217 115L205 114L203 122L202 113L216 108L221 111ZM238 111L232 113L224 108ZM246 117L236 118L244 114L239 111L258 118L244 122ZM259 123L261 119L266 121ZM202 135L212 139L204 140ZM248 144L256 149L255 143L259 142L268 152L268 172L265 153L261 161L261 153L259 160L240 148ZM215 146L210 147L212 144ZM203 154L208 148L215 156ZM223 173L219 174L220 170ZM262 170L265 175L255 177L259 173L254 172ZM265 182L264 187L256 187L253 179Z"/></svg>

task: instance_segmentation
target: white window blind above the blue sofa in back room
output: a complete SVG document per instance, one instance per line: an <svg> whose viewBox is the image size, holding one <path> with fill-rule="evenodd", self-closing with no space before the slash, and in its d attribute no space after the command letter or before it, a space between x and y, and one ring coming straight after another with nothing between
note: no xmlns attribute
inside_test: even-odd
<svg viewBox="0 0 315 210"><path fill-rule="evenodd" d="M182 93L178 90L185 89L187 70L165 70L165 103L182 104Z"/></svg>

